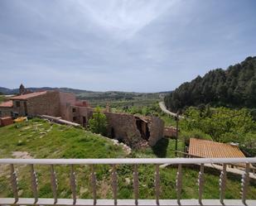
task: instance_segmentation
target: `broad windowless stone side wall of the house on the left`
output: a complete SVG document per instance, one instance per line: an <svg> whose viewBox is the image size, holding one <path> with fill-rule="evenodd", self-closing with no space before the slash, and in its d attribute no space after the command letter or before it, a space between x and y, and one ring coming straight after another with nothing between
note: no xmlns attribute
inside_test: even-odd
<svg viewBox="0 0 256 206"><path fill-rule="evenodd" d="M27 114L34 115L50 115L60 117L60 95L58 91L47 91L36 97L27 99Z"/></svg>

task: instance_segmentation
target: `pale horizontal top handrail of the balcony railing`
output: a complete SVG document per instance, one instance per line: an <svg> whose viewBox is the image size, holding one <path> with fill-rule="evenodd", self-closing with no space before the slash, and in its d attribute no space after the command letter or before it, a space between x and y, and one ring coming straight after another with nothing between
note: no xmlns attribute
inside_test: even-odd
<svg viewBox="0 0 256 206"><path fill-rule="evenodd" d="M94 164L237 164L256 163L256 157L247 158L122 158L122 159L0 159L0 164L40 165L94 165Z"/></svg>

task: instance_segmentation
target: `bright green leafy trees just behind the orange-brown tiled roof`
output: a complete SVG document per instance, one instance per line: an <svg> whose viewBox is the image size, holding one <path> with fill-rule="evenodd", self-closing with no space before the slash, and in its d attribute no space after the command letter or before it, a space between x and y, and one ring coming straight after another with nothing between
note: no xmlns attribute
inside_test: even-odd
<svg viewBox="0 0 256 206"><path fill-rule="evenodd" d="M248 109L188 108L181 121L185 131L200 130L214 141L239 142L241 146L253 147L256 143L256 123Z"/></svg>

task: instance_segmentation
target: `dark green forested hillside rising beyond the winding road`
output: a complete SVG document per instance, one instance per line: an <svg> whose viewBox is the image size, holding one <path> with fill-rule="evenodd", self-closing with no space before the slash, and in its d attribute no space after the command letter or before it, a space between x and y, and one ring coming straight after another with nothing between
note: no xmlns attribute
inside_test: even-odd
<svg viewBox="0 0 256 206"><path fill-rule="evenodd" d="M256 56L181 84L165 97L165 104L174 112L203 104L256 108Z"/></svg>

